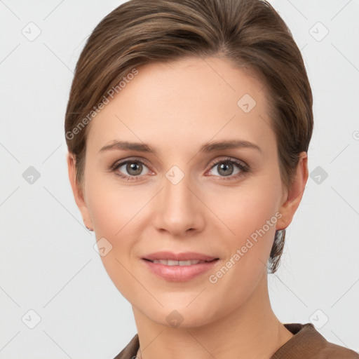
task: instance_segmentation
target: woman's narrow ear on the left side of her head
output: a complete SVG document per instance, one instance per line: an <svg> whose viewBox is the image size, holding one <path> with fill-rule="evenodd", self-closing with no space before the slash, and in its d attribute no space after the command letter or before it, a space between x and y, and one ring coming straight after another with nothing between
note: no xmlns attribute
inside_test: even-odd
<svg viewBox="0 0 359 359"><path fill-rule="evenodd" d="M68 152L67 154L67 167L69 169L69 181L72 187L72 192L74 193L74 198L76 201L77 207L81 212L83 223L87 227L93 231L93 224L90 219L90 214L88 212L88 207L85 201L85 197L83 196L83 189L81 189L81 185L76 179L76 159L73 154Z"/></svg>

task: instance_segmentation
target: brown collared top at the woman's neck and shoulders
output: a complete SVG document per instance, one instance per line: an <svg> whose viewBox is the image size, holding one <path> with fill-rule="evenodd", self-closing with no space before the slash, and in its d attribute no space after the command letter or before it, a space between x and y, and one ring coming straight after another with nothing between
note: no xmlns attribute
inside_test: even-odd
<svg viewBox="0 0 359 359"><path fill-rule="evenodd" d="M312 323L290 323L284 326L294 334L270 359L359 359L351 349L332 344L320 334ZM135 359L140 347L138 334L114 359Z"/></svg>

